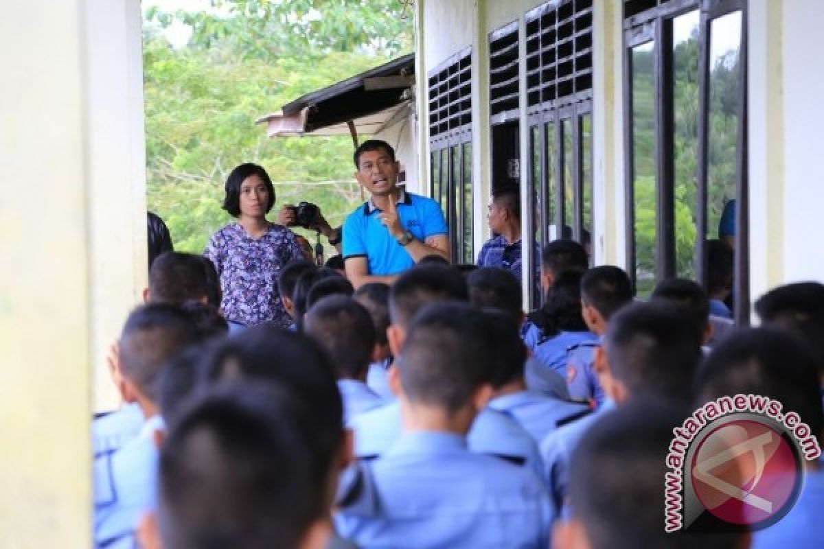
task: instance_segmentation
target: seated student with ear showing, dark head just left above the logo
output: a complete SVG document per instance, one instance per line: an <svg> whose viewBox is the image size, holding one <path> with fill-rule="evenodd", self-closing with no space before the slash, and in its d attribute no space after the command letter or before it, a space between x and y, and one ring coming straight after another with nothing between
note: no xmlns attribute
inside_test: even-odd
<svg viewBox="0 0 824 549"><path fill-rule="evenodd" d="M682 309L660 302L625 305L611 319L596 353L604 405L582 420L560 427L541 442L545 480L555 513L569 494L569 463L578 441L602 414L639 398L659 398L687 407L700 360L700 334Z"/></svg>

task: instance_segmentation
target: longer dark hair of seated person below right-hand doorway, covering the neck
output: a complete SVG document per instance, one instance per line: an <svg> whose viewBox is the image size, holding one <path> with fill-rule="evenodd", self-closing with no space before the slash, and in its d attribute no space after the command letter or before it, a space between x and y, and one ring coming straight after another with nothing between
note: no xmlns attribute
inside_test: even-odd
<svg viewBox="0 0 824 549"><path fill-rule="evenodd" d="M547 292L546 303L529 314L529 319L541 328L544 337L561 331L583 332L587 323L581 316L581 277L578 271L560 272Z"/></svg>

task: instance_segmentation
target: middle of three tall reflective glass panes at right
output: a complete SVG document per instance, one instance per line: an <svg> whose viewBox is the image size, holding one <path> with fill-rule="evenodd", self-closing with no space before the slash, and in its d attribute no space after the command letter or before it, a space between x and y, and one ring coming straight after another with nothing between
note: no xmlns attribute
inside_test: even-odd
<svg viewBox="0 0 824 549"><path fill-rule="evenodd" d="M695 162L698 158L699 12L672 21L672 106L675 121L675 257L678 277L695 279Z"/></svg>

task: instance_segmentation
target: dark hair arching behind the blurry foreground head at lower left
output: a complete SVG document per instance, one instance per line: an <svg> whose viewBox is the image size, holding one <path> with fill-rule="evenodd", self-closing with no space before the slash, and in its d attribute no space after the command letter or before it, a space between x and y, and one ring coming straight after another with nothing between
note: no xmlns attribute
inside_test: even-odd
<svg viewBox="0 0 824 549"><path fill-rule="evenodd" d="M343 441L343 405L329 355L311 337L266 324L246 328L224 340L204 369L208 381L274 381L302 402L311 402L312 440L318 452L332 456ZM318 475L329 472L322 464Z"/></svg>

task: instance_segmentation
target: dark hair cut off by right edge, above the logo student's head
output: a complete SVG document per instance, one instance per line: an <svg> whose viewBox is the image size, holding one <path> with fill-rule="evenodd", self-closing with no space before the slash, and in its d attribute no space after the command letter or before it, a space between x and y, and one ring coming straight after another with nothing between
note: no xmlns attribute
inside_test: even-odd
<svg viewBox="0 0 824 549"><path fill-rule="evenodd" d="M795 282L778 286L756 301L765 326L783 328L808 343L824 376L824 285Z"/></svg>

